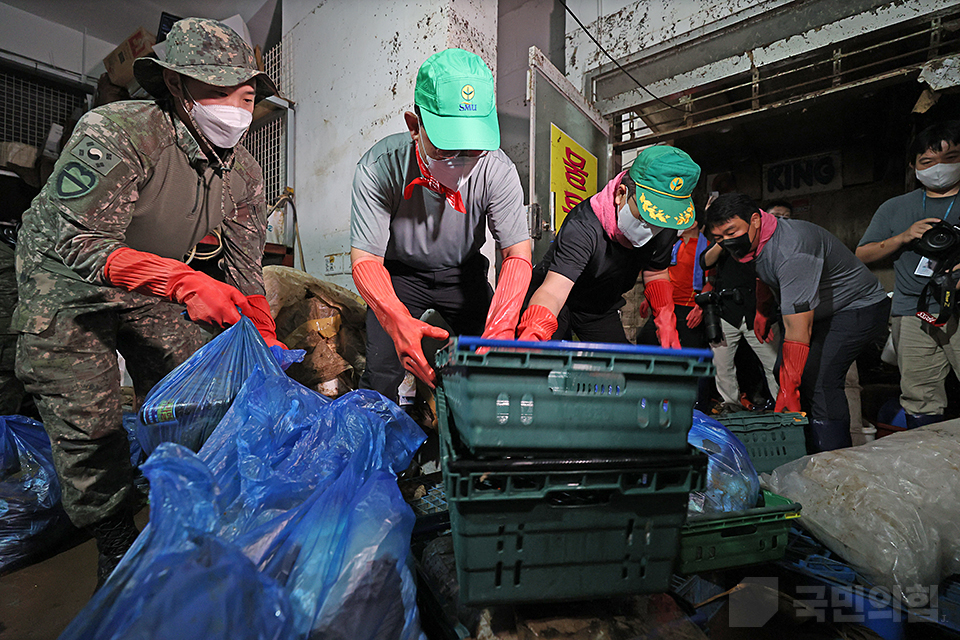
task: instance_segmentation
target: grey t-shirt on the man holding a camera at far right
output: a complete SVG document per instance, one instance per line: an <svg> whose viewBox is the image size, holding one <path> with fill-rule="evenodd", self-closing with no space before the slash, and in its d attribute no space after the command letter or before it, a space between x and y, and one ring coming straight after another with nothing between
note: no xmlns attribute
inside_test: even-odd
<svg viewBox="0 0 960 640"><path fill-rule="evenodd" d="M947 222L960 223L960 203L952 204L956 200L955 197L927 197L926 204L924 204L923 193L923 189L917 189L902 196L890 198L880 205L877 212L873 214L870 226L867 227L863 237L860 238L859 246L862 247L871 242L882 242L887 238L892 238L909 229L914 222L924 218L943 219L948 209L950 215L947 217ZM912 316L917 312L920 291L929 278L915 274L917 265L920 263L919 253L904 248L893 255L895 280L891 314L894 316ZM940 305L931 300L929 311L936 315L940 312Z"/></svg>

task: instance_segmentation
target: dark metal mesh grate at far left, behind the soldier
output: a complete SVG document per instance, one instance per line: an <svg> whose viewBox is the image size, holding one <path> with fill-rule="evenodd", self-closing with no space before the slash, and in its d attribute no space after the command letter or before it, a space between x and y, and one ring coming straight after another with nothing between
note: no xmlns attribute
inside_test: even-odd
<svg viewBox="0 0 960 640"><path fill-rule="evenodd" d="M27 74L0 69L0 141L43 149L50 125L66 125L74 111L86 107L86 94Z"/></svg>

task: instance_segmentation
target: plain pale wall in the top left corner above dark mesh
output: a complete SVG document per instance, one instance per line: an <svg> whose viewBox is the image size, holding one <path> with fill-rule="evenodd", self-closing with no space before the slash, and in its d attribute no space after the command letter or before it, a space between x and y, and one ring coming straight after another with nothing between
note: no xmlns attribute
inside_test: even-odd
<svg viewBox="0 0 960 640"><path fill-rule="evenodd" d="M104 71L103 59L118 44L0 3L0 49L72 74L86 73L93 84Z"/></svg>

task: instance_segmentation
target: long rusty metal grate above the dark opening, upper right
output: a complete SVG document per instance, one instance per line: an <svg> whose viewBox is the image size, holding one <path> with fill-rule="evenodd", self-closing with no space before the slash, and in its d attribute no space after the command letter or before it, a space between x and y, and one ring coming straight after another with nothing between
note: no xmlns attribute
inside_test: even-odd
<svg viewBox="0 0 960 640"><path fill-rule="evenodd" d="M900 77L916 77L928 60L960 51L960 14L880 29L790 60L754 67L655 102L615 112L614 147L623 152L821 95Z"/></svg>

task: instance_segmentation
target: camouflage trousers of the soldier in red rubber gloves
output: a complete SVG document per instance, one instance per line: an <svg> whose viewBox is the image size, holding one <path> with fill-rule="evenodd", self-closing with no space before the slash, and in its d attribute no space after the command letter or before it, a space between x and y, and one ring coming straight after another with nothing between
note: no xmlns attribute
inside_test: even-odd
<svg viewBox="0 0 960 640"><path fill-rule="evenodd" d="M126 508L135 495L116 352L126 360L142 401L203 338L181 315L181 306L116 289L98 296L102 287L82 282L73 286L76 306L61 307L40 333L20 334L17 375L36 397L64 509L76 526L85 527ZM32 311L30 301L26 304ZM42 301L36 307L42 312Z"/></svg>

